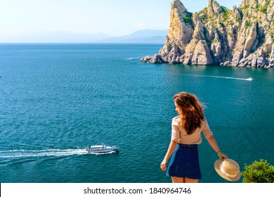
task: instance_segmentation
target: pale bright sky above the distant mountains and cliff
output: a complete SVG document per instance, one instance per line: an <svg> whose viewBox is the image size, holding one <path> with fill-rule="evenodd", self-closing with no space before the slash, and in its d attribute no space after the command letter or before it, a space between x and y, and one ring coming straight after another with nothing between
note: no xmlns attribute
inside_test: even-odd
<svg viewBox="0 0 274 197"><path fill-rule="evenodd" d="M240 6L242 0L217 0ZM172 0L0 0L0 37L32 32L70 32L112 37L137 30L167 30ZM190 12L207 0L181 0Z"/></svg>

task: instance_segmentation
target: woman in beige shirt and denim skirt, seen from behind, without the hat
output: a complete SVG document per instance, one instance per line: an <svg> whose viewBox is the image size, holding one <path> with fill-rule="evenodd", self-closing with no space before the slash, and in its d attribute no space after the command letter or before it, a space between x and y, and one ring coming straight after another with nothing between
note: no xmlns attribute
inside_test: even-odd
<svg viewBox="0 0 274 197"><path fill-rule="evenodd" d="M218 148L204 117L202 105L195 95L178 93L174 96L174 104L179 115L172 119L171 142L161 169L167 170L167 175L174 183L197 183L198 179L202 179L198 155L198 144L202 143L201 132L221 160L228 157Z"/></svg>

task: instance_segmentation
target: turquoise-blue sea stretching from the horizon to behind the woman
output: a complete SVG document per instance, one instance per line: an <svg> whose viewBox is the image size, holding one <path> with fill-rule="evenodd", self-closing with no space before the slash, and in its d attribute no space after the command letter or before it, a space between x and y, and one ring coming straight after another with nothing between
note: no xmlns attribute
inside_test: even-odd
<svg viewBox="0 0 274 197"><path fill-rule="evenodd" d="M161 47L0 44L0 182L171 182L159 166L180 91L207 106L242 171L261 158L274 165L274 70L140 62ZM84 151L101 142L119 153ZM204 136L199 147L200 182L227 182Z"/></svg>

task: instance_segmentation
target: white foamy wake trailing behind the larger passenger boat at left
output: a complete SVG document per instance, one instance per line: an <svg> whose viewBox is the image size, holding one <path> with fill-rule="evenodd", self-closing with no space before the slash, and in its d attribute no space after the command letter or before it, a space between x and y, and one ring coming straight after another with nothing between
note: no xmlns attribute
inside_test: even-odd
<svg viewBox="0 0 274 197"><path fill-rule="evenodd" d="M84 149L46 149L46 150L12 150L0 151L0 158L32 158L32 157L46 157L46 156L70 156L70 155L84 155L87 152Z"/></svg>

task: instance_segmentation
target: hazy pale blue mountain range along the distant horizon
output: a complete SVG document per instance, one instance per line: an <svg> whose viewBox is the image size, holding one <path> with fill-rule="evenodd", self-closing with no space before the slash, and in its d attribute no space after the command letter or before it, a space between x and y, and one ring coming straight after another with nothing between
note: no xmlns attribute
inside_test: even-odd
<svg viewBox="0 0 274 197"><path fill-rule="evenodd" d="M122 37L107 34L32 32L1 36L0 43L164 43L168 30L138 30Z"/></svg>

